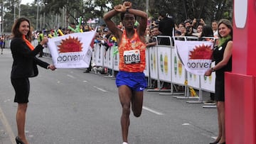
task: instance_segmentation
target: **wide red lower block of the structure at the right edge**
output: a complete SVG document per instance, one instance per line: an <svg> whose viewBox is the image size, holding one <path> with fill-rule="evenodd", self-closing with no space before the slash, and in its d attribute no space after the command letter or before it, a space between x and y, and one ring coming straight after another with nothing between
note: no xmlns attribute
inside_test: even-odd
<svg viewBox="0 0 256 144"><path fill-rule="evenodd" d="M225 74L225 128L228 144L256 143L255 79L242 74Z"/></svg>

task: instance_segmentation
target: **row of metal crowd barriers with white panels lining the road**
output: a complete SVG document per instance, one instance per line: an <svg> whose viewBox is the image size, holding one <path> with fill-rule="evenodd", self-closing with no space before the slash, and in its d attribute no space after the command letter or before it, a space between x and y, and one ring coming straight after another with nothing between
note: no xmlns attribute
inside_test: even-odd
<svg viewBox="0 0 256 144"><path fill-rule="evenodd" d="M198 101L187 102L202 103L202 91L213 93L215 91L215 73L212 73L212 76L210 77L205 77L203 75L196 75L187 72L181 64L181 60L179 60L178 55L176 55L176 49L173 46L171 37L158 36L157 38L161 37L169 38L171 45L155 45L150 48L146 48L146 68L144 70L144 74L149 79L149 84L152 79L156 80L158 82L157 88L159 88L157 91L162 92L163 90L160 89L160 82L168 82L171 84L171 89L169 89L170 92L165 92L163 94L183 94L184 96L175 97L177 99L198 99ZM174 38L184 38L184 40L197 39L195 37ZM37 45L37 41L34 42L34 44ZM46 56L50 55L50 50L48 48L44 48L43 52ZM119 71L119 53L117 52L114 54L113 47L110 47L105 51L105 45L95 43L92 55L92 61L95 62L95 65L97 67L112 70L112 75L108 77L114 78L114 71ZM175 85L184 87L184 92L174 92ZM197 89L198 96L189 96L189 87Z"/></svg>

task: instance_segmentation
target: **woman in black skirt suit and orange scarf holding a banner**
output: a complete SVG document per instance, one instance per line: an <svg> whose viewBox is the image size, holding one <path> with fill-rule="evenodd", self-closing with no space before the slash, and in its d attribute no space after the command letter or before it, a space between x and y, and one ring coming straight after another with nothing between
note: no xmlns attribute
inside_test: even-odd
<svg viewBox="0 0 256 144"><path fill-rule="evenodd" d="M28 77L38 75L36 65L50 70L55 70L55 66L36 58L38 52L43 50L43 45L48 42L48 39L43 38L41 43L33 48L33 45L31 45L31 24L27 18L18 18L11 32L14 35L11 40L11 53L14 59L11 69L11 84L15 90L14 102L18 103L16 113L18 136L16 137L16 143L28 144L25 135L26 109L30 90Z"/></svg>

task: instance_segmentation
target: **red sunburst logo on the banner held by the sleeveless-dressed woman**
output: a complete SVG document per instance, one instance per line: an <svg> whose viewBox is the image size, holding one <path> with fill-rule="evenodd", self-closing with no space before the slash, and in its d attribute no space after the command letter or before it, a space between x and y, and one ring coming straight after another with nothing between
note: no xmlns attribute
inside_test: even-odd
<svg viewBox="0 0 256 144"><path fill-rule="evenodd" d="M190 51L189 59L200 59L200 60L210 60L213 54L213 50L210 49L210 45L199 45Z"/></svg>

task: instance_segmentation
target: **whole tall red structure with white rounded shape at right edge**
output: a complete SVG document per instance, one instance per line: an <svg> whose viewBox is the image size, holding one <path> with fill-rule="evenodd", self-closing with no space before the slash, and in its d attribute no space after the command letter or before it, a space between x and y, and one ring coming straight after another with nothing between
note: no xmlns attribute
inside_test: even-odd
<svg viewBox="0 0 256 144"><path fill-rule="evenodd" d="M256 144L255 4L255 0L234 0L233 70L225 73L228 144Z"/></svg>

